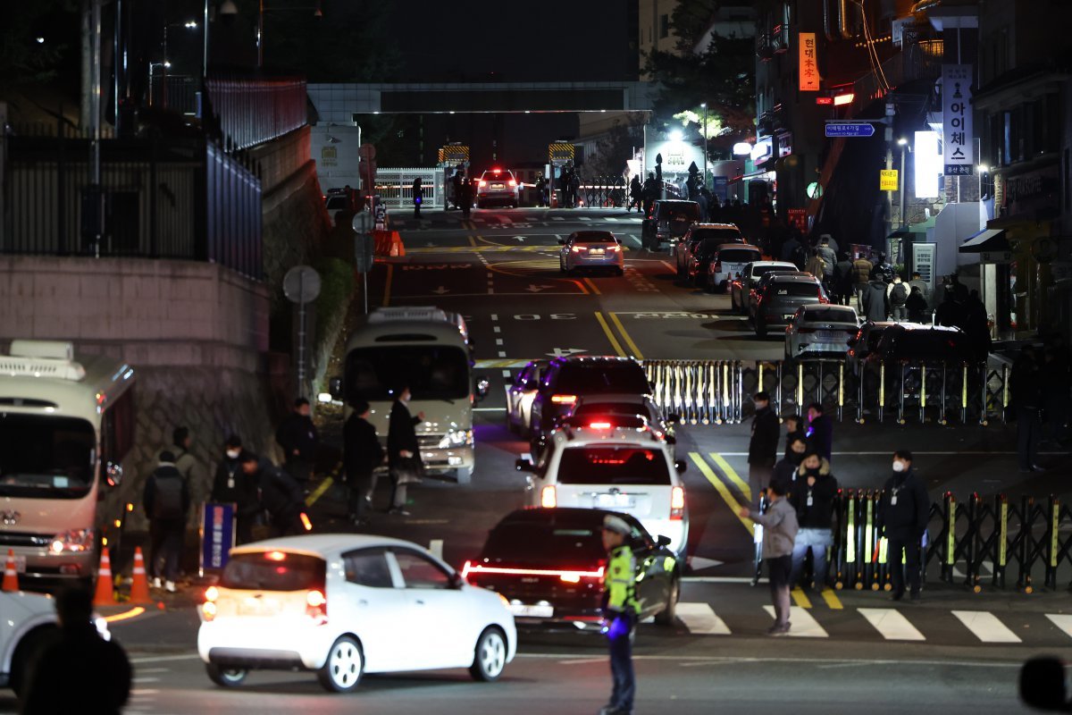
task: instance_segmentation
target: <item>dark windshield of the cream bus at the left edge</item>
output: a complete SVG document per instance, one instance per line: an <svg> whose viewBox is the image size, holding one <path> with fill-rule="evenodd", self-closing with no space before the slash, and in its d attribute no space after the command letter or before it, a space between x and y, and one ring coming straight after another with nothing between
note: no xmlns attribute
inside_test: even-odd
<svg viewBox="0 0 1072 715"><path fill-rule="evenodd" d="M0 413L0 496L80 498L93 486L95 461L88 421Z"/></svg>

